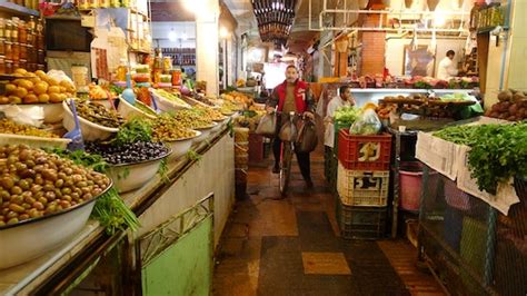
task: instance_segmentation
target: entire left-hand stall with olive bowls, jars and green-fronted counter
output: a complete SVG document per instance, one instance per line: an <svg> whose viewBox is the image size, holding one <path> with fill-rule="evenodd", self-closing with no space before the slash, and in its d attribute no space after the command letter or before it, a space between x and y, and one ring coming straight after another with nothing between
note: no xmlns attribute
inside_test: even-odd
<svg viewBox="0 0 527 296"><path fill-rule="evenodd" d="M159 273L185 275L172 290L209 290L192 273L211 277L235 200L230 125L249 106L205 96L206 82L172 69L170 50L150 56L147 1L0 11L1 38L9 30L9 52L0 52L0 294L148 294L166 287ZM160 256L173 249L187 269L167 273Z"/></svg>

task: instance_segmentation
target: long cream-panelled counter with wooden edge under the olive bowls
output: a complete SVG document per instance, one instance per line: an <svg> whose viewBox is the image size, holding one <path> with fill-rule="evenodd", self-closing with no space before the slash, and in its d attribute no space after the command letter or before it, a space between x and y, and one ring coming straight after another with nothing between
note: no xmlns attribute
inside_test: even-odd
<svg viewBox="0 0 527 296"><path fill-rule="evenodd" d="M112 249L117 249L117 253L122 255L111 256L112 260L119 262L117 265L121 269L117 273L117 276L121 277L118 279L120 284L116 284L113 288L121 289L126 286L122 284L123 277L135 273L141 276L140 270L135 270L137 258L133 258L133 254L140 254L137 250L139 245L137 240L159 225L199 204L208 195L213 195L210 210L213 213L213 238L211 237L210 244L216 246L235 197L233 139L229 136L227 125L193 150L200 155L199 159L185 156L168 164L169 181L162 181L156 176L139 190L121 196L139 217L141 227L137 233L118 231L109 236L98 221L90 220L76 237L53 251L26 264L0 270L0 294L50 295L71 292L78 285L90 286L81 282L90 277L95 278L90 279L93 283L102 279L103 276L97 275L97 268L101 265L100 262L103 262L103 257L113 251ZM110 265L116 266L116 264ZM95 284L91 286L101 287ZM140 288L140 285L125 287L130 290ZM116 289L108 287L100 289L110 293L107 295L117 294Z"/></svg>

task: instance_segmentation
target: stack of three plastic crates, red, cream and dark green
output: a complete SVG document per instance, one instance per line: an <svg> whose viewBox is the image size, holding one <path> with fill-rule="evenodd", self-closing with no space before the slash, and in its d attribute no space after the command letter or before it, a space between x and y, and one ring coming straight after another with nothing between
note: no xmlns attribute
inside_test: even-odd
<svg viewBox="0 0 527 296"><path fill-rule="evenodd" d="M337 220L346 239L385 236L388 214L391 135L338 131Z"/></svg>

